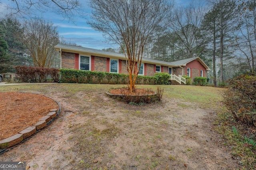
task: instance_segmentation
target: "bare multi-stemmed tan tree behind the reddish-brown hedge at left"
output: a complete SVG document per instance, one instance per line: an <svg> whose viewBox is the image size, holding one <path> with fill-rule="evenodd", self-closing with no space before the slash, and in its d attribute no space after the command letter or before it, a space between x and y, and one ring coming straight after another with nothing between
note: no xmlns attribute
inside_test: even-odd
<svg viewBox="0 0 256 170"><path fill-rule="evenodd" d="M57 27L44 20L26 21L24 23L23 42L30 51L34 66L50 67L56 51L54 45L59 43Z"/></svg>

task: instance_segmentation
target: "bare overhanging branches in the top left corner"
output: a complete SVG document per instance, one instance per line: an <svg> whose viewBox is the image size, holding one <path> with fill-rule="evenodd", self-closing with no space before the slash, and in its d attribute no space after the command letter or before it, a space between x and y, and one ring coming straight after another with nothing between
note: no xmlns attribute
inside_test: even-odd
<svg viewBox="0 0 256 170"><path fill-rule="evenodd" d="M10 3L2 3L8 15L18 14L24 18L34 16L38 11L41 13L51 11L74 21L78 16L84 16L83 5L79 0L10 0Z"/></svg>

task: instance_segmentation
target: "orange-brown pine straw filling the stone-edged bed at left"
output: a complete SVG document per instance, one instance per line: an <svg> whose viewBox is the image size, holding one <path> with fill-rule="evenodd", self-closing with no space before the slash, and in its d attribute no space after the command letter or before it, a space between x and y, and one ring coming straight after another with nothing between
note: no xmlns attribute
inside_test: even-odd
<svg viewBox="0 0 256 170"><path fill-rule="evenodd" d="M35 124L50 109L58 109L58 104L39 94L1 92L0 93L0 140Z"/></svg>

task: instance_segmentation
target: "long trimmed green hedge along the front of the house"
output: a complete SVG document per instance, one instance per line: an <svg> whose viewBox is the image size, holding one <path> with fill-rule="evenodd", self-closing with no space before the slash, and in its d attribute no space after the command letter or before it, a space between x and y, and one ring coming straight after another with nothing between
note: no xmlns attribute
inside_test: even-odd
<svg viewBox="0 0 256 170"><path fill-rule="evenodd" d="M128 84L128 74L110 72L84 71L74 69L60 69L60 83L98 83L98 84ZM168 84L168 73L156 73L154 76L140 76L136 84Z"/></svg>

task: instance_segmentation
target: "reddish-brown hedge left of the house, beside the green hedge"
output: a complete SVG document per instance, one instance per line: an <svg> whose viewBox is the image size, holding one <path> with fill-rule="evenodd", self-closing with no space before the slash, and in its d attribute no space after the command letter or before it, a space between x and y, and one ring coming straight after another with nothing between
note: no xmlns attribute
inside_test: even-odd
<svg viewBox="0 0 256 170"><path fill-rule="evenodd" d="M22 82L45 82L48 76L54 82L58 82L60 79L59 69L56 68L16 66L15 69Z"/></svg>

